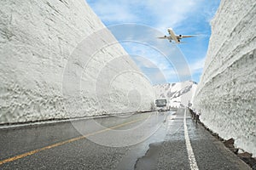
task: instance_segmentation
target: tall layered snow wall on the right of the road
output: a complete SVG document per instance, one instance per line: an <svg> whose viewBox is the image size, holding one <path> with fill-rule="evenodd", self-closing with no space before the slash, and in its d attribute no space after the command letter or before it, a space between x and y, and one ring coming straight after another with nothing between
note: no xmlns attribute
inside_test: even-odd
<svg viewBox="0 0 256 170"><path fill-rule="evenodd" d="M256 2L222 0L194 105L201 121L256 156Z"/></svg>

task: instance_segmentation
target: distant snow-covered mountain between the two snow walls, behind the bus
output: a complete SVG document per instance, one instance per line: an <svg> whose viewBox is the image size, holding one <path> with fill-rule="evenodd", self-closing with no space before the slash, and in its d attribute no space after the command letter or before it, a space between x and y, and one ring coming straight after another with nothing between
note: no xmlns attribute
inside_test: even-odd
<svg viewBox="0 0 256 170"><path fill-rule="evenodd" d="M195 82L176 82L154 85L156 99L167 99L172 107L187 106L191 103L197 84Z"/></svg>

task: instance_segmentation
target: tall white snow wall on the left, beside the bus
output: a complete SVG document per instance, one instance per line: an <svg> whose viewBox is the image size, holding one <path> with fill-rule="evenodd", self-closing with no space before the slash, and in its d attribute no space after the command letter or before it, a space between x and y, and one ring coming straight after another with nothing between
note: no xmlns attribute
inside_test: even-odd
<svg viewBox="0 0 256 170"><path fill-rule="evenodd" d="M150 110L148 79L84 0L0 6L0 124Z"/></svg>

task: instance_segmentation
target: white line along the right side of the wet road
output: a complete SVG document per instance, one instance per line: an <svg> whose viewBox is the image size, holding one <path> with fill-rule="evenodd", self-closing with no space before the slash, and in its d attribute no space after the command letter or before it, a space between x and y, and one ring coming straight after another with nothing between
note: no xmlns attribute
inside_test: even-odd
<svg viewBox="0 0 256 170"><path fill-rule="evenodd" d="M190 169L191 170L198 170L197 163L195 161L195 155L189 140L189 133L188 133L188 127L187 127L187 122L186 122L186 112L187 110L185 109L184 111L184 136L185 136L185 142L186 142L186 147L188 151L188 156L189 156L189 164L190 164Z"/></svg>

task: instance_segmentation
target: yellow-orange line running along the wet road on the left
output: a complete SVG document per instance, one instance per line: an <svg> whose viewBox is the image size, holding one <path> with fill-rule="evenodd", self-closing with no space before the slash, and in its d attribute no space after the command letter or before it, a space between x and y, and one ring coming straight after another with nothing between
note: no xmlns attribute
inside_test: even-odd
<svg viewBox="0 0 256 170"><path fill-rule="evenodd" d="M72 143L72 142L80 140L80 139L85 139L86 137L89 137L89 136L92 136L92 135L95 135L95 134L98 134L98 133L103 133L103 132L109 131L109 130L114 129L114 128L124 127L125 125L131 124L133 122L139 122L139 121L142 121L143 119L145 119L145 117L143 117L141 119L137 119L137 120L131 121L131 122L125 122L125 123L122 123L122 124L119 124L119 125L116 125L116 126L113 126L113 127L104 128L104 129L96 131L94 133L88 133L86 135L79 136L77 138L68 139L68 140L65 140L65 141L62 141L62 142L59 142L59 143L56 143L56 144L51 144L51 145L45 146L44 148L40 148L38 150L32 150L32 151L26 152L24 154L20 154L18 156L13 156L13 157L10 157L10 158L5 159L3 161L0 161L0 165L3 165L4 163L7 163L9 161L18 160L18 159L26 157L26 156L31 156L31 155L36 154L36 153L38 153L40 151L43 151L43 150L49 150L51 148L55 148L55 147L61 146L63 144L69 144L69 143Z"/></svg>

